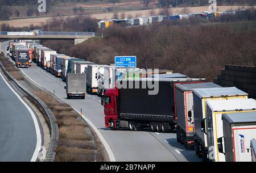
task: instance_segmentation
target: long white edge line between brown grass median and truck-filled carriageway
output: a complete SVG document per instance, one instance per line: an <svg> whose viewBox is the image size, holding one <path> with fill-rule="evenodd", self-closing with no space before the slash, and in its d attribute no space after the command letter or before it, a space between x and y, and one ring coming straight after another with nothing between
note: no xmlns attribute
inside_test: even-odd
<svg viewBox="0 0 256 173"><path fill-rule="evenodd" d="M33 81L33 79L31 79L30 77L28 77L28 75L25 74L25 73L23 72L23 70L20 70L20 71L22 71L22 73L23 73L24 75L26 75L26 77L27 77L28 79L30 79L30 80L31 80L32 82L34 82L36 85L40 86L38 83L36 83L35 81ZM40 86L40 87L42 87L42 86ZM42 87L42 88L43 88L43 87ZM48 90L47 90L47 91L48 91ZM49 92L51 92L51 91L49 91ZM57 96L57 95L56 95L56 96ZM59 98L60 100L62 100L63 102L65 102L65 100L63 100L63 99L60 98L59 96L57 96L57 98ZM66 102L65 102L65 103L66 103ZM68 103L67 103L67 104L68 104ZM69 106L71 106L71 105L69 105ZM73 107L73 106L71 106L71 107L72 107L77 113L79 113L79 111L77 111L77 109L76 109L75 107ZM102 144L104 145L104 147L105 147L105 149L106 149L106 151L107 151L107 153L108 153L108 155L109 155L110 162L115 162L115 156L114 156L114 154L113 154L113 152L112 152L112 150L111 150L111 148L110 148L108 142L106 142L105 138L102 136L100 130L98 130L98 128L92 123L92 121L90 121L88 118L86 118L85 115L83 115L83 114L82 114L82 119L84 119L84 120L93 128L94 132L96 132L96 134L97 134L98 137L100 138Z"/></svg>

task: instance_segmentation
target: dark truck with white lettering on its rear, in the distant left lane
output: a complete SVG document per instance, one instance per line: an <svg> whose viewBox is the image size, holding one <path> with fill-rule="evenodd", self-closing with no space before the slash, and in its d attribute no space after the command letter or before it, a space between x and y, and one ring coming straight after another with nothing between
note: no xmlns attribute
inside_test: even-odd
<svg viewBox="0 0 256 173"><path fill-rule="evenodd" d="M30 65L30 49L17 49L16 50L16 61L17 67L27 67Z"/></svg>

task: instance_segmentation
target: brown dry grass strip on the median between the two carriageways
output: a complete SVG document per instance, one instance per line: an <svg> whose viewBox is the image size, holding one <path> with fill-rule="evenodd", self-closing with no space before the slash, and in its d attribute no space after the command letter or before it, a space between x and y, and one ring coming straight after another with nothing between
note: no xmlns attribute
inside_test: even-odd
<svg viewBox="0 0 256 173"><path fill-rule="evenodd" d="M46 91L32 91L51 109L59 126L59 141L56 159L59 162L94 161L97 150L92 135L86 132L86 124L77 112L67 104L59 103ZM101 157L101 154L100 154ZM103 160L102 158L96 158Z"/></svg>

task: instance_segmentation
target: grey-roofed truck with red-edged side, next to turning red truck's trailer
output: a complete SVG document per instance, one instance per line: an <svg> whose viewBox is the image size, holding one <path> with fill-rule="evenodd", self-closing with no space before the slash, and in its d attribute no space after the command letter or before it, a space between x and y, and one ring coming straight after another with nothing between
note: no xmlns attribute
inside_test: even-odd
<svg viewBox="0 0 256 173"><path fill-rule="evenodd" d="M193 150L194 141L194 112L193 112L193 89L195 88L220 88L212 83L177 84L176 86L177 108L177 142L184 144L186 149Z"/></svg>

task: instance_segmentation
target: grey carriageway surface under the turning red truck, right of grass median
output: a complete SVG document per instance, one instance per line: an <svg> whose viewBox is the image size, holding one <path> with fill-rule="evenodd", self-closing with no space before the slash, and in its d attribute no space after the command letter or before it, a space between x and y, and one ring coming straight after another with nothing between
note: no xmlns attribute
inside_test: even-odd
<svg viewBox="0 0 256 173"><path fill-rule="evenodd" d="M7 43L2 43L5 50ZM55 78L35 64L28 69L21 69L28 78L39 86L53 93L80 111L102 136L110 155L110 161L201 161L195 151L185 150L176 142L176 133L152 133L148 131L130 132L127 129L112 131L105 128L104 107L96 95L86 95L85 100L68 100L65 93L65 83ZM105 143L105 142L104 142ZM112 155L113 154L113 155Z"/></svg>

